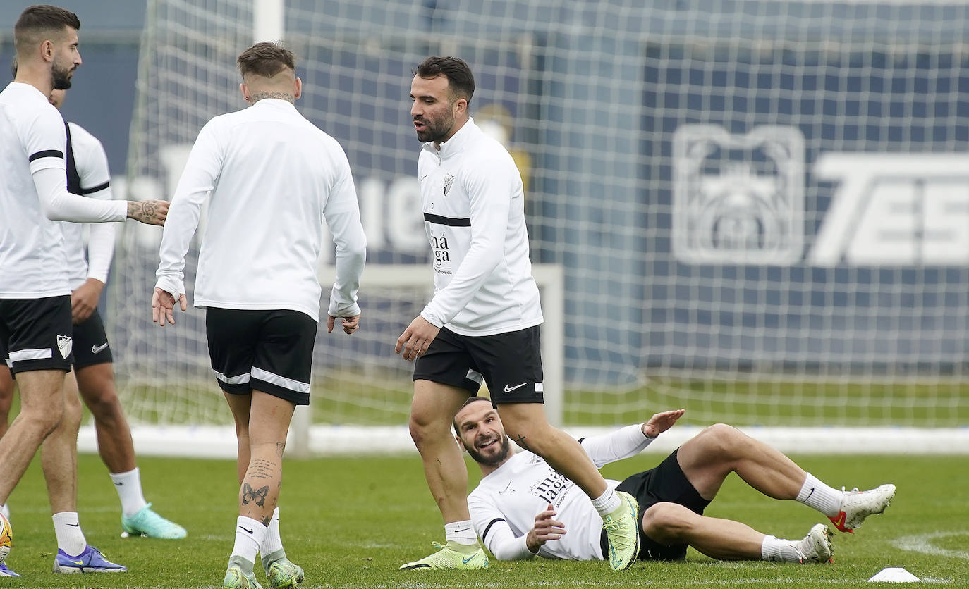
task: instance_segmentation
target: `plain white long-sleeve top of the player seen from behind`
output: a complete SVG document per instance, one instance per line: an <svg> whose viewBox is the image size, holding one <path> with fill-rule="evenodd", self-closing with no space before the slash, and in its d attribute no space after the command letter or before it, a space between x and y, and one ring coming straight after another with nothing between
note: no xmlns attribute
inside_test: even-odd
<svg viewBox="0 0 969 589"><path fill-rule="evenodd" d="M316 266L326 222L336 244L328 313L359 314L366 237L350 163L291 103L263 99L216 116L199 133L172 198L156 273L156 286L176 297L185 292L185 254L206 199L195 306L291 309L319 321Z"/></svg>

